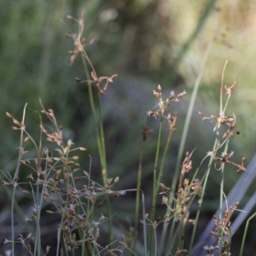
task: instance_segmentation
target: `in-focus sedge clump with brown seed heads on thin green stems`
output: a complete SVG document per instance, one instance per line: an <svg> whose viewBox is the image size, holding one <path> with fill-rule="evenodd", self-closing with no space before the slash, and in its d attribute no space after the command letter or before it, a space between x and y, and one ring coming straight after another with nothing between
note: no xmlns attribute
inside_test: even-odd
<svg viewBox="0 0 256 256"><path fill-rule="evenodd" d="M214 132L216 132L216 140L212 150L202 160L200 166L195 168L193 172L193 152L186 152L184 159L180 164L179 178L167 184L163 182L164 163L170 147L175 124L177 121L177 113L167 114L166 111L173 103L186 95L186 91L175 95L171 91L166 99L161 86L153 91L154 97L158 100L157 108L152 108L147 112L148 117L156 118L159 122L156 154L154 159L154 168L152 171L152 196L150 197L151 207L150 214L145 212L145 196L141 190L141 173L143 169L143 154L145 141L147 136L152 133L152 129L146 125L143 127L143 144L140 154L140 165L138 168L137 188L115 190L115 184L118 183L119 177L112 178L108 171L108 159L106 158L106 141L104 135L103 115L102 115L102 100L101 97L108 89L109 83L113 83L113 79L117 74L112 76L99 76L86 52L86 40L83 38L84 22L83 13L79 19L68 15L68 19L77 22L79 29L78 33L67 33L67 36L74 40L74 49L69 52L70 62L73 63L77 57L81 57L83 61L84 74L86 79L82 80L75 77L77 83L86 83L88 86L88 95L90 99L90 107L95 125L95 138L100 158L100 167L102 174L102 182L92 179L91 165L89 170L81 170L79 164L79 154L84 154L86 148L74 147L72 140L63 138L63 127L58 124L54 111L44 108L40 101L41 111L38 113L40 117L40 139L38 143L29 135L25 125L26 106L22 120L19 121L10 113L7 113L8 118L12 119L15 126L13 131L20 131L19 157L15 173L2 172L2 186L8 198L12 202L11 219L12 219L12 240L4 241L4 244L12 244L12 252L15 254L15 244L21 243L28 250L29 255L39 256L51 252L51 244L42 248L40 220L42 218L42 209L45 205L51 205L51 209L46 212L49 215L57 214L60 224L57 232L57 246L54 255L139 255L137 252L137 242L139 240L138 232L139 225L143 229L143 252L141 255L191 255L193 245L195 244L195 232L198 227L198 220L202 213L202 204L204 202L205 190L209 182L209 175L212 169L220 170L220 216L214 216L215 229L212 230L212 236L216 237L218 244L209 246L205 244L204 250L206 255L230 255L230 244L232 242L232 230L230 229L230 218L234 211L237 210L239 202L235 205L228 205L223 208L225 198L224 182L225 182L225 167L227 164L232 164L237 167L237 173L245 171L243 158L241 164L236 164L232 161L234 152L229 150L229 141L236 135L236 116L227 115L227 106L232 92L236 88L236 82L231 86L223 86L223 76L221 82L221 100L219 115L204 116L199 113L203 120L211 120L214 122ZM89 42L93 44L93 40ZM225 66L227 63L225 64ZM200 74L202 77L202 74ZM200 83L198 78L197 89ZM96 97L93 95L93 86L95 86ZM196 90L197 90L196 89ZM227 95L225 104L223 104L223 95ZM195 93L196 94L196 93ZM194 99L195 100L195 99ZM195 102L195 101L194 101ZM189 109L192 111L192 109ZM46 117L45 125L43 119ZM161 143L163 143L163 125L167 120L169 133L167 136L164 150L161 152ZM225 132L221 133L220 127L225 127ZM26 135L25 135L26 134ZM26 136L26 137L25 137ZM45 141L46 138L46 141ZM31 156L29 150L26 150L26 145L32 142L35 147L36 156ZM48 143L48 144L47 144ZM54 145L56 148L52 148ZM220 154L220 150L222 150ZM160 157L162 156L162 157ZM161 163L159 164L159 159ZM202 170L202 163L205 159L209 159L207 168ZM93 159L90 159L93 161ZM220 165L218 166L218 164ZM26 177L20 176L20 168L24 167L29 170ZM192 173L193 172L193 173ZM204 172L202 179L198 179L198 173ZM186 175L192 173L192 179L188 179ZM4 176L4 179L2 179ZM26 189L23 189L25 186ZM10 187L12 189L6 189ZM20 216L22 207L19 206L16 199L17 190L24 195L28 195L33 202L33 207L30 216L26 219ZM159 192L160 191L160 192ZM136 192L134 230L132 232L134 242L131 246L128 245L125 236L120 236L116 239L114 236L113 212L111 211L112 196L125 196L127 192ZM156 218L157 199L161 197L161 202L166 205L166 213L163 218ZM141 198L141 201L140 201ZM198 207L195 220L189 216L191 205L195 199L198 199ZM108 213L98 214L97 209L106 204ZM142 209L142 216L140 210ZM24 223L28 235L19 234L19 238L15 237L15 212L19 215L20 221ZM98 215L97 215L98 214ZM139 221L142 219L141 221ZM28 225L28 223L35 223ZM100 225L108 223L108 237L105 237L105 244L100 244ZM193 232L190 237L186 237L186 225L193 225ZM163 226L163 228L162 228ZM169 232L166 232L167 227ZM162 237L160 241L157 228L162 228ZM164 238L163 238L164 237ZM189 241L189 248L186 248L184 241ZM108 242L106 242L108 240ZM168 241L164 245L164 240ZM31 243L32 242L32 243ZM243 241L244 243L244 241ZM243 246L242 246L243 248ZM241 250L242 250L241 248Z"/></svg>

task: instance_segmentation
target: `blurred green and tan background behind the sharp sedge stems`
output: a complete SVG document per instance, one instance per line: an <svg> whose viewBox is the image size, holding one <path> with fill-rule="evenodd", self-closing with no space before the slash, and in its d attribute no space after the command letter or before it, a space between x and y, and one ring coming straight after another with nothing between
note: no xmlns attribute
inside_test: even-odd
<svg viewBox="0 0 256 256"><path fill-rule="evenodd" d="M83 63L77 58L70 65L68 51L74 49L74 42L65 37L65 33L76 33L78 29L77 23L68 20L67 15L78 18L81 11L84 12L86 42L95 39L94 44L86 46L86 51L97 73L99 76L118 74L102 97L109 175L120 177L116 189L136 188L142 126L146 112L157 104L152 90L156 90L158 84L166 97L171 90L188 92L179 103L170 106L171 113L178 111L177 132L173 135L163 177L166 186L171 185L189 100L196 77L204 67L185 146L189 152L196 148L193 166L196 168L200 164L206 152L211 150L215 134L212 131L214 124L202 122L198 111L205 116L220 112L221 73L226 60L224 84L230 86L237 81L227 114L236 114L240 131L230 143L230 150L235 152L237 163L243 156L247 163L250 162L256 151L255 1L3 0L0 2L1 170L10 173L15 170L19 147L19 134L12 131L12 122L6 118L5 112L21 120L24 105L28 103L26 127L31 136L39 140L40 98L45 108L54 110L59 124L64 127L65 139L72 139L77 147L87 148L79 161L84 170L88 170L90 154L93 177L100 177L87 87L74 81L74 77L85 79ZM207 49L209 55L204 64ZM142 186L151 195L148 182L152 182L159 119L150 118L147 125L154 132L145 149ZM167 124L164 132L163 141L164 136L168 136ZM32 143L28 147L33 152ZM199 175L203 174L204 170ZM211 186L205 195L207 202L202 226L218 207L220 179L217 171L212 172ZM236 168L230 167L225 193L237 179ZM253 190L252 186L247 199ZM247 199L244 198L244 202ZM116 203L113 211L120 223L129 226L127 218L132 220L134 195L125 200L125 214L120 212L120 205ZM161 199L159 211L164 212L160 203ZM8 212L3 193L0 204L2 212ZM150 201L147 206L150 207ZM6 231L0 239L10 236L9 223L8 214L2 214L0 225L6 227ZM252 222L252 230L255 224ZM49 223L45 221L45 234L47 225ZM241 241L240 233L234 236L237 243ZM253 244L250 236L246 250L248 254L245 255L255 252L255 241ZM3 253L2 249L0 253ZM232 252L232 255L236 253Z"/></svg>

